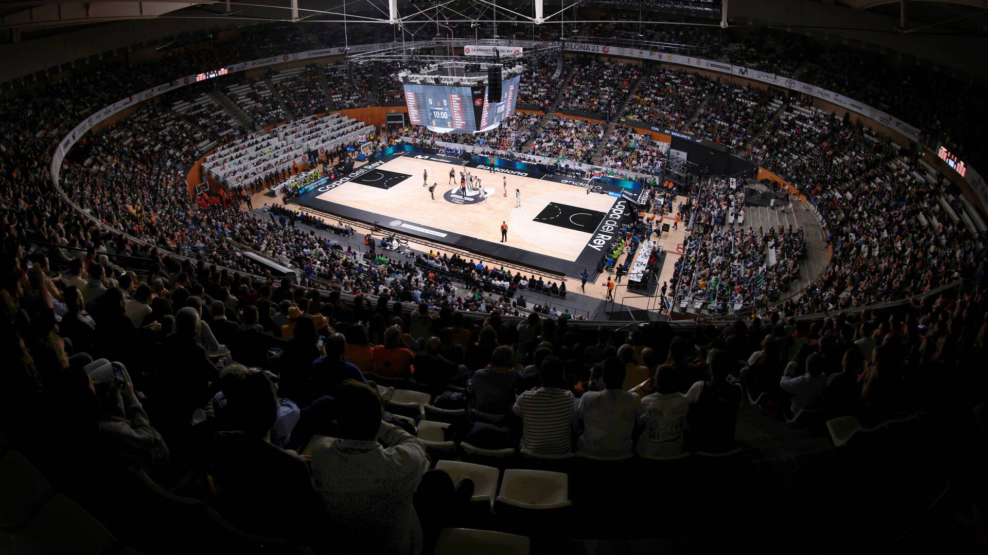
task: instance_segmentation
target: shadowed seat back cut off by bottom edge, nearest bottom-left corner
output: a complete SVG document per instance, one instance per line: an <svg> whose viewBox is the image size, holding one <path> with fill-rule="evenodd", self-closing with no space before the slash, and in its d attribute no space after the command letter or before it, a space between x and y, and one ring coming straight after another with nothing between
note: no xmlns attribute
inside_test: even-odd
<svg viewBox="0 0 988 555"><path fill-rule="evenodd" d="M14 552L72 553L115 550L117 538L93 515L61 494L54 494L27 524L12 536Z"/></svg>

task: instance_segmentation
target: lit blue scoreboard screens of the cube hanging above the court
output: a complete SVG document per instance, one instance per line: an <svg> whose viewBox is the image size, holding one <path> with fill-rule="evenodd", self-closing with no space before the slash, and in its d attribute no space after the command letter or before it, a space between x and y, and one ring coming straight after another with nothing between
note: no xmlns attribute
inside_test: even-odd
<svg viewBox="0 0 988 555"><path fill-rule="evenodd" d="M473 133L515 114L520 75L502 82L501 101L487 102L487 86L405 85L408 119L439 133Z"/></svg>

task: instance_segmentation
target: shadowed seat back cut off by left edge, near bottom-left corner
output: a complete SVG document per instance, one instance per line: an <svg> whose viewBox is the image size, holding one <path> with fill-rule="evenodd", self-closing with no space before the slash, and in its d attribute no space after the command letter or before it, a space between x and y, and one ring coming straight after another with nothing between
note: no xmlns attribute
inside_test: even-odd
<svg viewBox="0 0 988 555"><path fill-rule="evenodd" d="M20 527L53 493L41 471L16 449L0 457L0 528Z"/></svg>

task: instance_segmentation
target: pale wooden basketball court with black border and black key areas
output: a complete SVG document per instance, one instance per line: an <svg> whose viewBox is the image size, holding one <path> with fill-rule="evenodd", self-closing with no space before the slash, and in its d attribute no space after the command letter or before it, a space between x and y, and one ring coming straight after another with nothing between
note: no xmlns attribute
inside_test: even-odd
<svg viewBox="0 0 988 555"><path fill-rule="evenodd" d="M459 174L466 171L480 179L480 188L460 188ZM423 185L423 172L429 185L436 184L435 198ZM634 210L629 200L615 194L588 195L584 183L477 163L464 167L457 158L405 152L355 168L289 202L377 222L383 229L466 250L480 259L573 278L583 269L594 272L617 238L620 217ZM501 241L502 222L508 224L507 242Z"/></svg>

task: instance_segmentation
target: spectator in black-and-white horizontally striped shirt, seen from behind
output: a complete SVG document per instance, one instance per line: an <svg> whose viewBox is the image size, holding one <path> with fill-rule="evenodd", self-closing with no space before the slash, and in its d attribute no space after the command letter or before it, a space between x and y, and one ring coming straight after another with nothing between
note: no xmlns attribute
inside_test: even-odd
<svg viewBox="0 0 988 555"><path fill-rule="evenodd" d="M522 448L537 454L566 454L572 451L573 393L563 378L559 357L545 357L538 368L541 387L526 391L515 402L514 412L522 419Z"/></svg>

